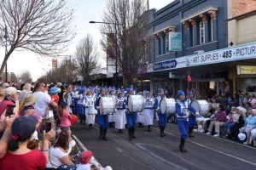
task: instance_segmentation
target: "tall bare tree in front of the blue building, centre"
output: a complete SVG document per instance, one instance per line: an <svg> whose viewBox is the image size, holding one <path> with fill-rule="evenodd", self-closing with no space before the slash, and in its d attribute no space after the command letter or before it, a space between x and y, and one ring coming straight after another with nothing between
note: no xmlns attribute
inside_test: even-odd
<svg viewBox="0 0 256 170"><path fill-rule="evenodd" d="M149 12L145 0L108 0L107 10L102 16L105 24L102 32L114 33L114 38L103 40L108 51L109 40L117 48L114 55L119 70L123 72L123 83L129 85L138 77L138 69L145 63L145 37L148 31Z"/></svg>

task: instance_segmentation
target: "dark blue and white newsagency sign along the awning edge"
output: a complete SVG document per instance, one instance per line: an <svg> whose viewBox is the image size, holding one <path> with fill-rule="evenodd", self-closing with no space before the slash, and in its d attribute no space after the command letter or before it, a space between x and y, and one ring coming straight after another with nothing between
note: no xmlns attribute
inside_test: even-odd
<svg viewBox="0 0 256 170"><path fill-rule="evenodd" d="M183 68L186 66L186 58L180 57L177 59L170 59L158 63L148 64L147 72L153 71L164 71L164 70L172 70L175 68Z"/></svg>

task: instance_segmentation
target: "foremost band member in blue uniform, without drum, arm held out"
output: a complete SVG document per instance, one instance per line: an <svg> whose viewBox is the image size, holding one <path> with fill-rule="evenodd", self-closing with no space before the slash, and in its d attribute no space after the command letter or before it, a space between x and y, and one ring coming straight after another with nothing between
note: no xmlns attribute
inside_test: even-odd
<svg viewBox="0 0 256 170"><path fill-rule="evenodd" d="M184 149L185 145L185 139L187 138L187 130L188 130L188 118L189 118L189 111L198 114L195 109L188 105L188 102L185 101L185 94L183 90L177 91L177 102L175 104L175 108L177 111L177 127L181 134L180 136L180 144L179 144L179 150L181 152L187 152L187 150ZM188 111L189 110L189 111Z"/></svg>

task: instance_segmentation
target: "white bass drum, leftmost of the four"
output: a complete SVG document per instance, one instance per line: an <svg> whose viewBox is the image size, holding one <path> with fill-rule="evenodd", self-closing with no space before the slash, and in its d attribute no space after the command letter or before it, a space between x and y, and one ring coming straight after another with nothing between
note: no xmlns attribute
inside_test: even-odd
<svg viewBox="0 0 256 170"><path fill-rule="evenodd" d="M101 115L111 115L115 112L115 102L112 97L102 97L99 105Z"/></svg>

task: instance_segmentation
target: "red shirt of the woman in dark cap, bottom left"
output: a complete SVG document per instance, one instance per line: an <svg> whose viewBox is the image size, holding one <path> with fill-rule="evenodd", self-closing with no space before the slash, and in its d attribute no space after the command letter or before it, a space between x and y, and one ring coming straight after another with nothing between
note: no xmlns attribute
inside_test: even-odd
<svg viewBox="0 0 256 170"><path fill-rule="evenodd" d="M0 159L0 169L3 170L43 170L46 167L46 158L39 150L31 150L22 155L7 152Z"/></svg>

